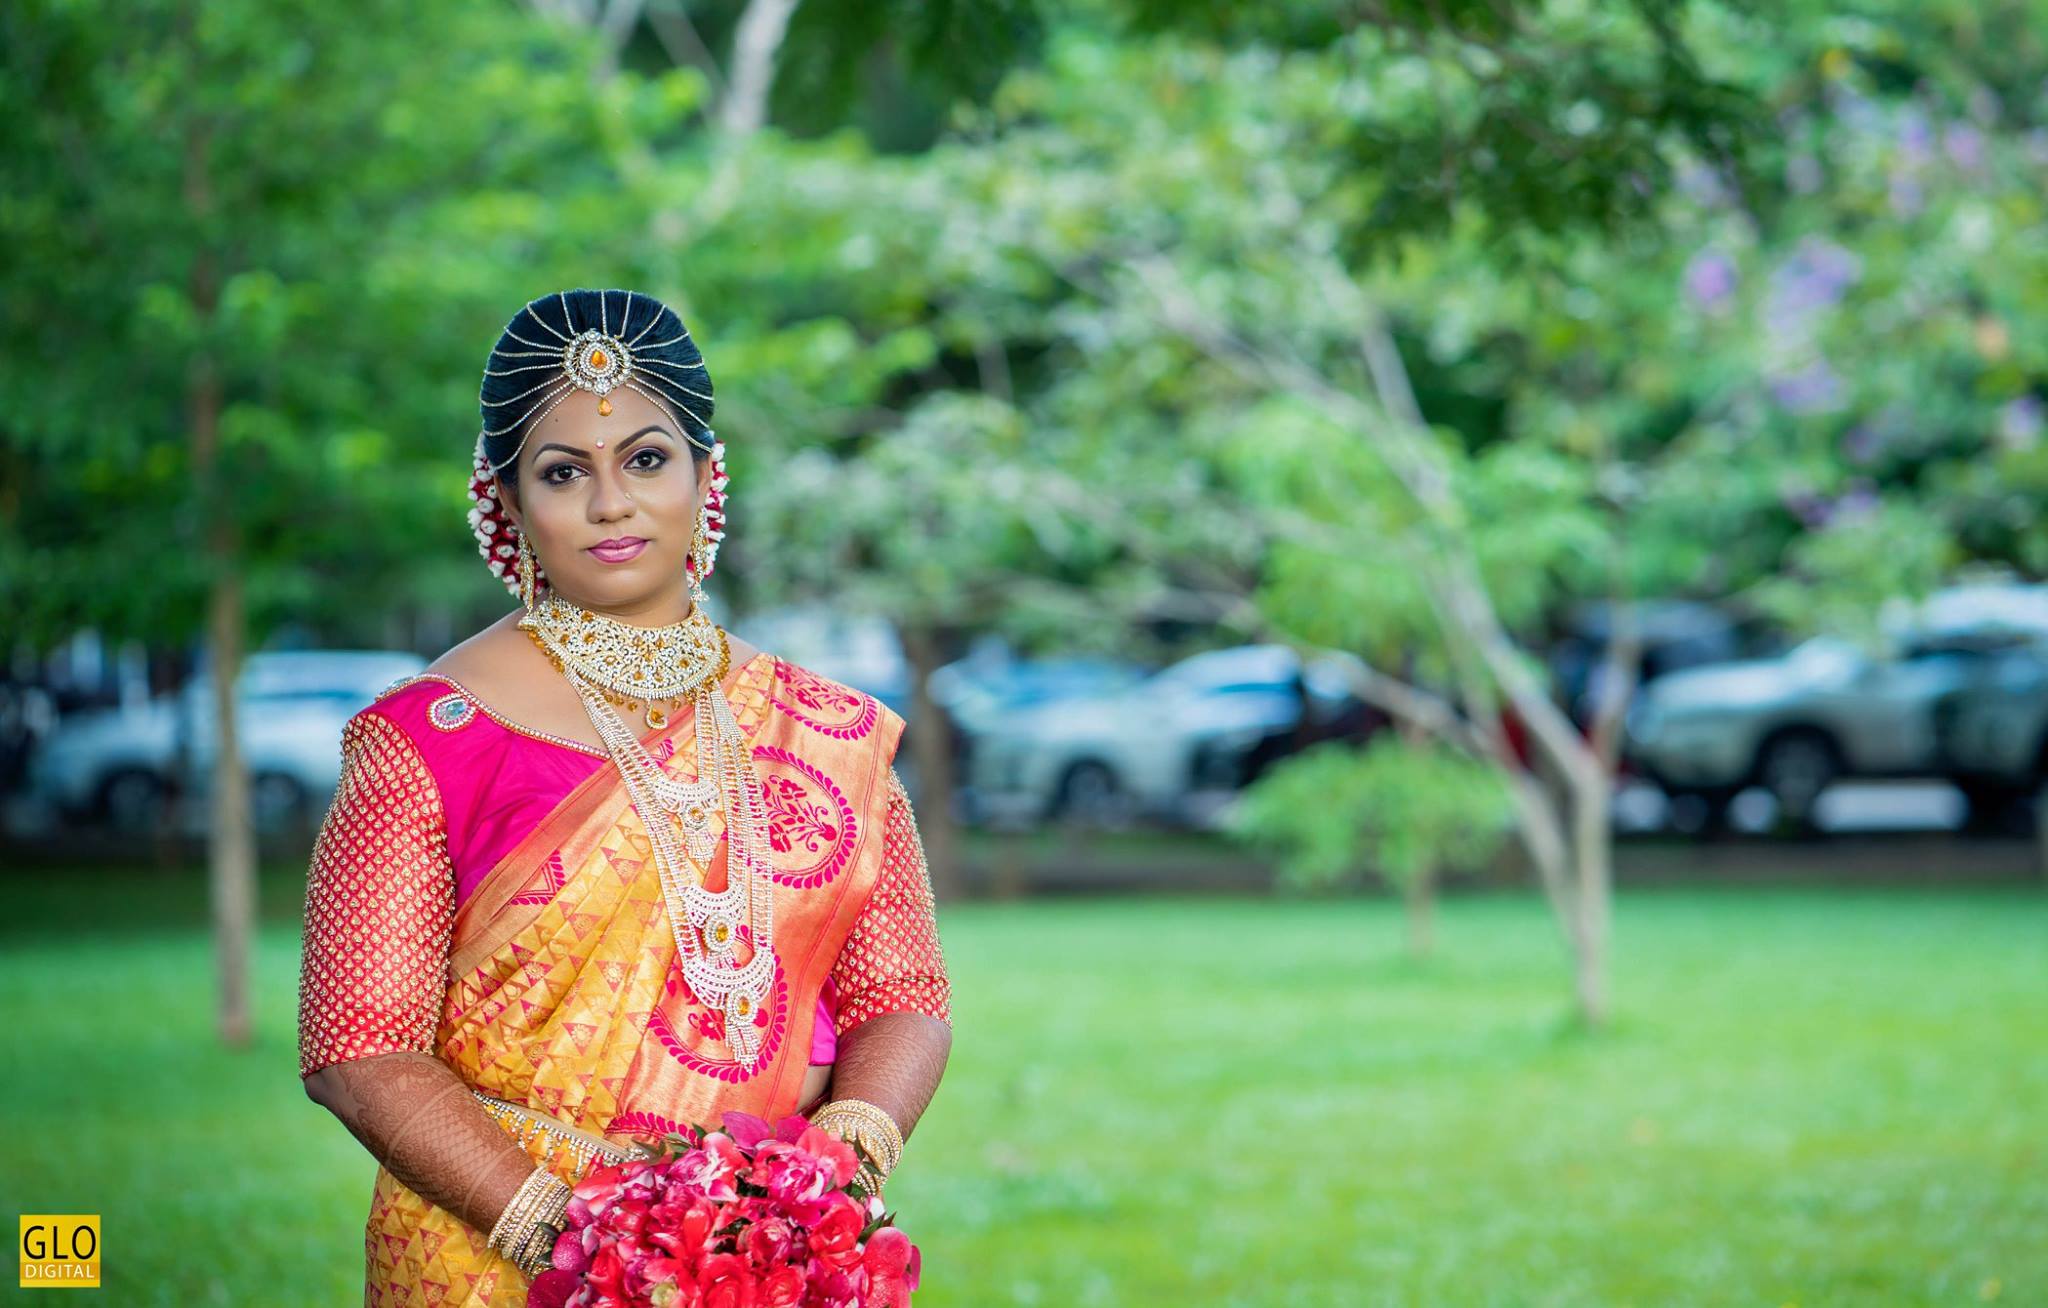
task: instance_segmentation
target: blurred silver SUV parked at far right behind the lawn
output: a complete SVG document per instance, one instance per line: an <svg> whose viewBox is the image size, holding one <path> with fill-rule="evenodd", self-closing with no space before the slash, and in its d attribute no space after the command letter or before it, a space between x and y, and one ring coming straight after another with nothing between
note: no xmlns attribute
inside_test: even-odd
<svg viewBox="0 0 2048 1308"><path fill-rule="evenodd" d="M2048 637L2048 594L1948 587L1921 606L1888 606L1880 628L1880 655L1821 635L1780 659L1659 678L1628 710L1630 759L1675 802L1700 804L1704 825L1718 825L1747 786L1810 825L1837 780L1946 776L1935 706L1980 680L1999 649Z"/></svg>

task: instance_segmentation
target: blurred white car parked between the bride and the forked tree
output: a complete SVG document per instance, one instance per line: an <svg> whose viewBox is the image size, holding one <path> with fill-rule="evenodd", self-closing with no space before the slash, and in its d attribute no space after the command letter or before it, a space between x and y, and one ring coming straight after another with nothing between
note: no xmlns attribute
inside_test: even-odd
<svg viewBox="0 0 2048 1308"><path fill-rule="evenodd" d="M1069 669L1071 671L1071 669ZM1100 675L1102 669L1096 669ZM1303 665L1284 645L1198 653L1149 678L971 710L969 809L983 821L1196 821L1276 737L1356 714L1346 655Z"/></svg>

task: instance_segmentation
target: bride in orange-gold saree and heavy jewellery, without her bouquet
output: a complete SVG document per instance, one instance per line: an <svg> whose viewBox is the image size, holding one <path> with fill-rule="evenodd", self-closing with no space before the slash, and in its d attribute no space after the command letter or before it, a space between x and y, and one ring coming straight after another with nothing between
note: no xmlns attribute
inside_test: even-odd
<svg viewBox="0 0 2048 1308"><path fill-rule="evenodd" d="M862 1142L874 1191L952 1048L903 718L705 612L688 330L545 295L481 413L520 604L350 718L305 899L299 1075L377 1161L371 1304L522 1304L578 1177L727 1109Z"/></svg>

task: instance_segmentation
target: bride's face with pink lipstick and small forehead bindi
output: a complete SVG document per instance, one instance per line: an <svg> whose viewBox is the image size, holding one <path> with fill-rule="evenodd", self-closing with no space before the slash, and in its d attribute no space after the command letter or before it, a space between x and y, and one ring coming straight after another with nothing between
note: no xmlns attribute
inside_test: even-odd
<svg viewBox="0 0 2048 1308"><path fill-rule="evenodd" d="M518 452L516 495L500 493L563 600L641 624L688 612L690 536L711 489L690 442L639 391L575 391ZM707 461L709 469L709 461Z"/></svg>

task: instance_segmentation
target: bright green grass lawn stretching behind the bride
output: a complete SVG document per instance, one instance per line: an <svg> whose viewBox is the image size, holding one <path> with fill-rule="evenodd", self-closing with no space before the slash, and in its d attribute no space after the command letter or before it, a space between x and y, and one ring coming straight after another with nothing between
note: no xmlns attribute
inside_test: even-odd
<svg viewBox="0 0 2048 1308"><path fill-rule="evenodd" d="M197 880L10 874L0 1183L102 1214L104 1302L360 1302L373 1163L211 1036ZM891 1202L924 1308L2048 1304L2048 897L1659 890L1565 1021L1534 897L942 913L952 1062ZM25 1292L23 1292L25 1294Z"/></svg>

